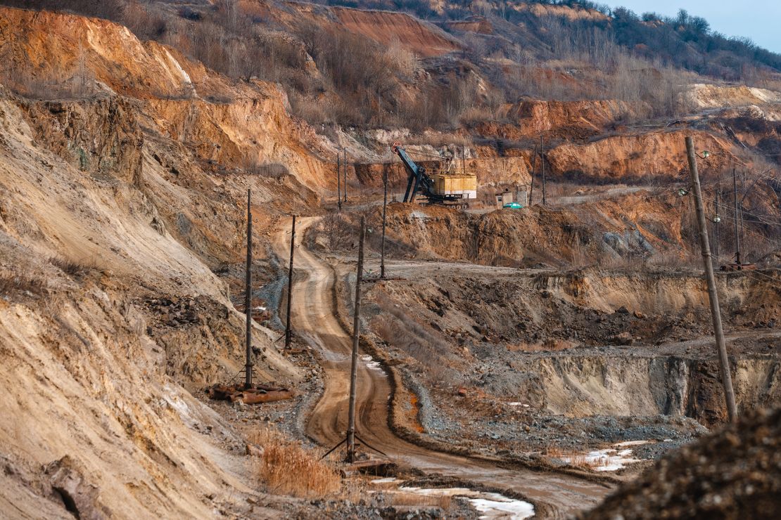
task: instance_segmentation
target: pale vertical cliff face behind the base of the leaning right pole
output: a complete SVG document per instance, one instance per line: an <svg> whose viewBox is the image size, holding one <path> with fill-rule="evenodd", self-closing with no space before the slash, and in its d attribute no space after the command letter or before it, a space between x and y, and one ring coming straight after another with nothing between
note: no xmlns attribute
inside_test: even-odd
<svg viewBox="0 0 781 520"><path fill-rule="evenodd" d="M772 407L781 398L781 363L772 356L737 359L741 409ZM686 416L705 426L727 419L719 363L686 356L556 355L515 363L520 395L569 417ZM524 371L530 377L522 377ZM531 383L533 381L533 383Z"/></svg>

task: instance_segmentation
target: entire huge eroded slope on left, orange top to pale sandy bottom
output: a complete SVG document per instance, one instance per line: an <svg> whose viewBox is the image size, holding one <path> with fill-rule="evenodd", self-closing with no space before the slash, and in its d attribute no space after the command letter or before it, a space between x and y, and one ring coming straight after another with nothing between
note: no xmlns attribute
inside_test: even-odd
<svg viewBox="0 0 781 520"><path fill-rule="evenodd" d="M244 315L212 270L243 255L246 189L259 235L316 200L310 130L276 87L227 82L105 21L2 9L0 41L41 82L0 87L3 510L251 514L241 436L185 387L244 363ZM57 76L80 55L87 90ZM277 162L289 174L262 169ZM253 341L258 377L300 379L271 331L255 324Z"/></svg>

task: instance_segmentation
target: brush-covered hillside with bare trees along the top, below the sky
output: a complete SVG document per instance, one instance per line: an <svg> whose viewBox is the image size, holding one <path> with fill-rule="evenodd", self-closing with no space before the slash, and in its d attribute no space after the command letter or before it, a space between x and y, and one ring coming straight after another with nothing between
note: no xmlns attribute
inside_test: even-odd
<svg viewBox="0 0 781 520"><path fill-rule="evenodd" d="M51 0L2 3L63 9ZM669 117L690 109L680 94L696 75L758 87L781 77L781 56L716 34L685 11L665 18L590 2L401 0L81 0L66 9L116 20L227 76L280 83L292 111L311 123L455 128L504 119L502 104L523 96L642 102L641 116Z"/></svg>

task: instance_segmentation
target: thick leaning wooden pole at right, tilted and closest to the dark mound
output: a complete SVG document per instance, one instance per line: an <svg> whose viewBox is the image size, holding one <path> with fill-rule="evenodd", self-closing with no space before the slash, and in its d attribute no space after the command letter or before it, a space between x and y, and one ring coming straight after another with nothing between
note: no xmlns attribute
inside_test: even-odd
<svg viewBox="0 0 781 520"><path fill-rule="evenodd" d="M689 159L689 173L691 184L694 186L694 205L697 207L697 224L700 228L700 248L702 262L705 267L705 278L708 281L708 299L711 302L711 317L713 318L713 332L716 337L716 347L719 348L719 366L722 372L722 384L727 404L727 416L732 423L737 419L735 405L735 391L732 385L732 376L729 373L729 358L724 343L724 330L722 328L722 314L719 309L719 294L716 292L716 280L711 264L711 248L708 245L708 228L705 225L705 210L702 203L702 190L700 188L700 175L697 173L697 159L694 156L694 140L686 137L686 155Z"/></svg>

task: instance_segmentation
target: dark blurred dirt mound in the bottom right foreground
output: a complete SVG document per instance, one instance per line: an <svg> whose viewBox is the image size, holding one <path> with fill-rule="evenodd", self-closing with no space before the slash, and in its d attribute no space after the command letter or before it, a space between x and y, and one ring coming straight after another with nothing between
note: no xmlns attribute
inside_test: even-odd
<svg viewBox="0 0 781 520"><path fill-rule="evenodd" d="M777 518L781 511L781 409L662 458L579 518Z"/></svg>

